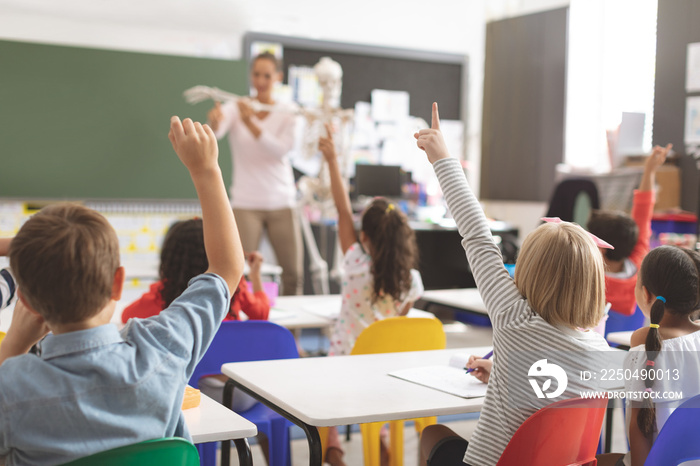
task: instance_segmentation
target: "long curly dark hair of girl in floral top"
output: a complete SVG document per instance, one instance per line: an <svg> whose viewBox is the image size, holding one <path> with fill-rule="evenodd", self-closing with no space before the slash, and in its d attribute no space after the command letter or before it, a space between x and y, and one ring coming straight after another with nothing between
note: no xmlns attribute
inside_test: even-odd
<svg viewBox="0 0 700 466"><path fill-rule="evenodd" d="M371 243L372 301L391 296L400 302L411 289L411 269L418 248L406 216L384 198L376 198L362 216L362 231Z"/></svg>

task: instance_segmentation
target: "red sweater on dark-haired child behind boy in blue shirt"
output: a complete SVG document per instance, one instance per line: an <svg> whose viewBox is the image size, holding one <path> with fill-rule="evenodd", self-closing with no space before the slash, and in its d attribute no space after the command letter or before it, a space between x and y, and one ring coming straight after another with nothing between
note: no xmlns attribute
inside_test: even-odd
<svg viewBox="0 0 700 466"><path fill-rule="evenodd" d="M139 299L129 304L122 312L122 322L126 323L132 317L146 318L158 315L165 307L161 297L163 282L156 282ZM231 310L224 320L240 320L243 311L251 320L267 320L270 314L270 302L264 291L251 293L248 283L241 278L238 289L231 299Z"/></svg>

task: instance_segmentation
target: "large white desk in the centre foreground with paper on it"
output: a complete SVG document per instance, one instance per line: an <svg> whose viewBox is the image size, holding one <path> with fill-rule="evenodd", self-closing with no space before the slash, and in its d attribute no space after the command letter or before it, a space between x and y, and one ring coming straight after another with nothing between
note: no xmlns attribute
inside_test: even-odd
<svg viewBox="0 0 700 466"><path fill-rule="evenodd" d="M320 466L322 452L317 427L480 411L483 398L460 398L387 374L398 369L447 365L454 353L484 354L490 349L224 364L221 371L229 377L224 400L231 399L235 387L297 424L309 440L310 464Z"/></svg>

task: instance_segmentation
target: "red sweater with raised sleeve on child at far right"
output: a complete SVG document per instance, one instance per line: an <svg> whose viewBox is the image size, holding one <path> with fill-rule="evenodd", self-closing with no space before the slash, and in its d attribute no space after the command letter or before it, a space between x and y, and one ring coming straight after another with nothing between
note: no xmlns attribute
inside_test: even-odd
<svg viewBox="0 0 700 466"><path fill-rule="evenodd" d="M642 265L644 256L649 252L649 237L651 236L651 217L654 213L654 191L634 191L632 203L632 218L639 228L639 238L629 259L637 267L637 272L629 278L614 278L605 276L605 299L612 304L611 309L622 315L631 316L637 306L634 297L634 287L637 284L637 273Z"/></svg>

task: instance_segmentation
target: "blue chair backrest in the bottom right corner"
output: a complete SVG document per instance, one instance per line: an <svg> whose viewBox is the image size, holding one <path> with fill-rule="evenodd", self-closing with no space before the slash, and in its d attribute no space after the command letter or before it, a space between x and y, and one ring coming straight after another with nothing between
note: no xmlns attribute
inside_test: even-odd
<svg viewBox="0 0 700 466"><path fill-rule="evenodd" d="M671 466L700 459L700 395L683 402L666 420L644 466Z"/></svg>

